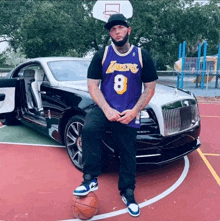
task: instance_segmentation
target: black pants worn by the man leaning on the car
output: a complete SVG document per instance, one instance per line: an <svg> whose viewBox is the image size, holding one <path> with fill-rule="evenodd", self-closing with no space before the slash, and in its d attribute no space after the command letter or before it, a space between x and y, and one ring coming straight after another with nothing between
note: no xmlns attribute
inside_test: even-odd
<svg viewBox="0 0 220 221"><path fill-rule="evenodd" d="M135 189L137 129L119 122L108 121L103 111L95 106L86 116L82 130L83 173L97 177L101 174L102 138L110 126L120 155L118 189Z"/></svg>

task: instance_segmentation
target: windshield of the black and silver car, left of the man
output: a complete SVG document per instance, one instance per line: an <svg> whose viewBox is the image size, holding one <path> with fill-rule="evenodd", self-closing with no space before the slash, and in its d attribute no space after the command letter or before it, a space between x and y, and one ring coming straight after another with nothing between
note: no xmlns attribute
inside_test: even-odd
<svg viewBox="0 0 220 221"><path fill-rule="evenodd" d="M48 66L57 81L86 80L89 61L50 61Z"/></svg>

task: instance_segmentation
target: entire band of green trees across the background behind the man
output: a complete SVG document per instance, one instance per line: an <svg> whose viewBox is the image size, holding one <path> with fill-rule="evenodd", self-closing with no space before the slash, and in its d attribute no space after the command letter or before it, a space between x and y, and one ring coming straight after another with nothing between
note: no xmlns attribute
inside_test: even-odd
<svg viewBox="0 0 220 221"><path fill-rule="evenodd" d="M160 68L173 66L178 45L187 42L187 56L197 55L198 43L208 41L208 54L219 43L217 0L130 0L131 43L150 51ZM92 17L92 0L0 0L0 37L27 57L84 56L109 44L104 22ZM3 13L2 13L3 12Z"/></svg>

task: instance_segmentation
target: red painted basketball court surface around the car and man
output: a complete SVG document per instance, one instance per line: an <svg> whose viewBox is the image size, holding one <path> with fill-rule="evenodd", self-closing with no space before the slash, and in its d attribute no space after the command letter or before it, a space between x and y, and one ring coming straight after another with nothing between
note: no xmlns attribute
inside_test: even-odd
<svg viewBox="0 0 220 221"><path fill-rule="evenodd" d="M220 119L213 116L219 116L220 105L207 106L200 104L200 149L202 153L216 154L220 146L216 132L219 131ZM219 176L219 156L206 155L206 158ZM138 167L135 191L138 203L151 201L175 184L186 168L185 162L182 159L149 170ZM180 186L164 198L143 207L140 217L135 220L220 220L220 191L216 179L197 151L189 155L189 163L189 171ZM81 182L81 176L64 148L0 144L0 220L73 220L72 192ZM99 177L99 190L96 192L98 216L117 211L123 213L125 205L117 190L117 180L117 166ZM134 218L125 213L102 220L129 221Z"/></svg>

